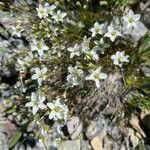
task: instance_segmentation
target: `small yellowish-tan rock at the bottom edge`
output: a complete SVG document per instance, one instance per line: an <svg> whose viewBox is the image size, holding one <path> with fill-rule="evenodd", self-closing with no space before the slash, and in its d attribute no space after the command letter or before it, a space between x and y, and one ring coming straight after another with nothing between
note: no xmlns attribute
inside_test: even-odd
<svg viewBox="0 0 150 150"><path fill-rule="evenodd" d="M93 150L102 150L102 142L99 140L98 136L94 137L90 143Z"/></svg>

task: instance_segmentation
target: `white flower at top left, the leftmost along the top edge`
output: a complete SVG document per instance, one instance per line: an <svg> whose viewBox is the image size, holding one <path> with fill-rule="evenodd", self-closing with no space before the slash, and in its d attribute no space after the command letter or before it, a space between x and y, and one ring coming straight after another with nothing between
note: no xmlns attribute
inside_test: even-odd
<svg viewBox="0 0 150 150"><path fill-rule="evenodd" d="M41 4L39 4L39 7L36 8L36 10L40 19L48 17L47 8L43 7Z"/></svg>

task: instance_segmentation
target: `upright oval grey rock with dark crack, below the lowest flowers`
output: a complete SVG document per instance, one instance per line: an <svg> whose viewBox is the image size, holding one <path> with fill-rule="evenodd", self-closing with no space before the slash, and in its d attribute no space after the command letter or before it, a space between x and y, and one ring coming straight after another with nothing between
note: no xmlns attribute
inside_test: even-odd
<svg viewBox="0 0 150 150"><path fill-rule="evenodd" d="M76 139L79 137L80 133L82 132L82 122L80 121L79 117L73 116L67 122L67 129L69 134L71 135L71 139Z"/></svg>

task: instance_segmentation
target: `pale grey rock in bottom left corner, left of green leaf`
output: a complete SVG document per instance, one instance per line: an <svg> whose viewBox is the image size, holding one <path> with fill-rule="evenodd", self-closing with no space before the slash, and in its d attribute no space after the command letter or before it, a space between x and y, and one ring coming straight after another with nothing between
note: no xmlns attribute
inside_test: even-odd
<svg viewBox="0 0 150 150"><path fill-rule="evenodd" d="M8 150L8 145L7 145L7 137L5 135L5 129L0 126L0 149L1 150Z"/></svg>

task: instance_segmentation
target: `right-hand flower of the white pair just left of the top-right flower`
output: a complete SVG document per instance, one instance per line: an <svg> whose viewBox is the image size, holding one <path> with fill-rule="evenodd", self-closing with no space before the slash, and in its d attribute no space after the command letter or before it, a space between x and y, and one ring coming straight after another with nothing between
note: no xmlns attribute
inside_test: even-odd
<svg viewBox="0 0 150 150"><path fill-rule="evenodd" d="M112 25L108 26L107 30L108 32L104 36L109 37L112 42L115 41L117 36L121 36L121 33L118 30L114 29Z"/></svg>

